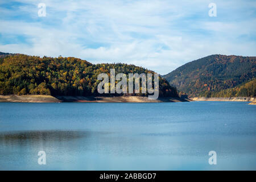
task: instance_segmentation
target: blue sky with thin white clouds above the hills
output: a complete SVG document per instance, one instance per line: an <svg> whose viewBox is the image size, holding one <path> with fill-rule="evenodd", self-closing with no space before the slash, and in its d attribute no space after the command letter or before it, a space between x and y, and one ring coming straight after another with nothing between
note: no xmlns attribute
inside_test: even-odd
<svg viewBox="0 0 256 182"><path fill-rule="evenodd" d="M46 17L38 16L39 3ZM209 3L216 3L216 17L208 15ZM212 54L255 56L256 1L1 0L0 51L166 74Z"/></svg>

